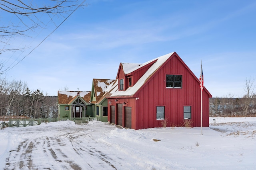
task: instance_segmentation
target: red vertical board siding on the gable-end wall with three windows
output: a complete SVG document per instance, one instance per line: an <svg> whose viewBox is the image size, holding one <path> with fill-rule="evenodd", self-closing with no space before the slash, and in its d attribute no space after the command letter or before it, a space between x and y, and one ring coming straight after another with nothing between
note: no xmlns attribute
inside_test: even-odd
<svg viewBox="0 0 256 170"><path fill-rule="evenodd" d="M182 75L182 89L166 88L166 74ZM136 125L134 129L162 127L156 120L156 106L165 107L168 126L182 126L184 106L191 106L193 127L201 126L200 84L190 69L176 55L168 59L140 88L137 95ZM203 126L209 126L209 94L203 91Z"/></svg>

